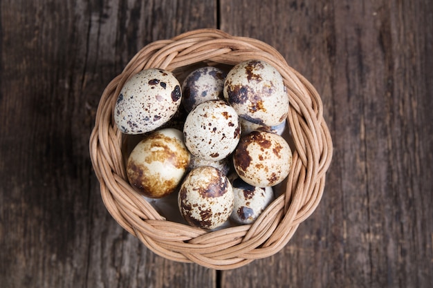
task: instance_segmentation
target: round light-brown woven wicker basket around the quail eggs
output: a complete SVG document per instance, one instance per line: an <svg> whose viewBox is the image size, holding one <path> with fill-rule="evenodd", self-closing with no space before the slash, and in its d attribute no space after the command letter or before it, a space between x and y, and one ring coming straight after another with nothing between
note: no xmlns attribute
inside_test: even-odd
<svg viewBox="0 0 433 288"><path fill-rule="evenodd" d="M204 231L166 220L127 181L122 156L124 135L113 122L113 108L120 89L131 75L145 68L163 68L179 75L200 64L234 66L248 59L262 59L272 64L282 74L288 90L288 127L294 151L282 195L254 224ZM109 83L98 106L90 155L104 205L124 229L167 259L232 269L277 253L299 224L313 213L324 191L332 141L317 91L288 66L277 50L256 39L202 29L145 46Z"/></svg>

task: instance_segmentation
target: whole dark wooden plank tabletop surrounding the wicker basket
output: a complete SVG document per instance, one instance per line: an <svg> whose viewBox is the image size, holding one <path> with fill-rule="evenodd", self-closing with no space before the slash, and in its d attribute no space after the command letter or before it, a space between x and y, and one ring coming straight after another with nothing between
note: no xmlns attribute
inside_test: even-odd
<svg viewBox="0 0 433 288"><path fill-rule="evenodd" d="M431 1L0 1L0 19L1 287L431 287ZM104 87L196 28L277 48L322 96L335 149L286 247L230 271L120 228L89 158Z"/></svg>

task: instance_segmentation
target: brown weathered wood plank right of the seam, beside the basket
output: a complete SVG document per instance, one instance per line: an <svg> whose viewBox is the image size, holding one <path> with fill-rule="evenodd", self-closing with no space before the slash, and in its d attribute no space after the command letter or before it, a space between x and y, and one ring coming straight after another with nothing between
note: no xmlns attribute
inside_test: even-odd
<svg viewBox="0 0 433 288"><path fill-rule="evenodd" d="M221 1L322 95L335 154L324 198L275 256L222 287L430 287L432 4ZM272 19L272 21L270 21Z"/></svg>

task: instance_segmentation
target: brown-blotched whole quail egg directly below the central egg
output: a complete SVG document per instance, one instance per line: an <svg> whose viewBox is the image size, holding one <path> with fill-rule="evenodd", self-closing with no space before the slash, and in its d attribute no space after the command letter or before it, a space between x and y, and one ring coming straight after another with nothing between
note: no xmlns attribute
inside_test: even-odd
<svg viewBox="0 0 433 288"><path fill-rule="evenodd" d="M215 229L230 217L233 198L232 184L219 169L200 166L183 180L178 193L178 207L190 225Z"/></svg>

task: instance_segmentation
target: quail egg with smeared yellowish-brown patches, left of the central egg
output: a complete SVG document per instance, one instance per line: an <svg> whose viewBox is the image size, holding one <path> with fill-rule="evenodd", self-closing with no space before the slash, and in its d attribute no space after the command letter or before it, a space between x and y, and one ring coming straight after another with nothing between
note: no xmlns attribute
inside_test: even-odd
<svg viewBox="0 0 433 288"><path fill-rule="evenodd" d="M131 151L127 177L131 186L149 198L162 198L176 190L190 164L183 134L174 128L150 133Z"/></svg>

